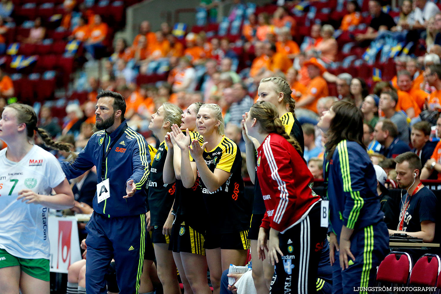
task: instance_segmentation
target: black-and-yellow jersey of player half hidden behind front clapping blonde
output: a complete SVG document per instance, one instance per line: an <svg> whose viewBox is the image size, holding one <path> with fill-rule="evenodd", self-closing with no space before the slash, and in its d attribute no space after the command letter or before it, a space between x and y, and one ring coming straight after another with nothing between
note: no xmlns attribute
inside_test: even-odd
<svg viewBox="0 0 441 294"><path fill-rule="evenodd" d="M204 143L204 138L198 132L189 131L189 134L191 141L198 140L200 145ZM173 206L173 210L176 214L184 216L187 225L200 233L205 233L206 222L204 222L204 220L207 219L207 214L199 182L199 177L196 177L194 185L190 189L187 189L183 186L181 180L176 180L175 205Z"/></svg>

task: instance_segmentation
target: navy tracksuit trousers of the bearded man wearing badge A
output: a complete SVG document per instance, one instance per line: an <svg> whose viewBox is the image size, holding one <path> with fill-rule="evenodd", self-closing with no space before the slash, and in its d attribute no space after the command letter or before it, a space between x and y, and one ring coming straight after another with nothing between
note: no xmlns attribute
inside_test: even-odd
<svg viewBox="0 0 441 294"><path fill-rule="evenodd" d="M120 294L138 294L144 262L145 214L108 217L93 212L86 230L87 294L107 294L105 275L112 258Z"/></svg>

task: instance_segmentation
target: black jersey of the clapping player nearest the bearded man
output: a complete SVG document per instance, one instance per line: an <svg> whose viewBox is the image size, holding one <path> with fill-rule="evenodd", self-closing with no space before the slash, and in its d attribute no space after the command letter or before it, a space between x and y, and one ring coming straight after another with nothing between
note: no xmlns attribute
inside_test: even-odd
<svg viewBox="0 0 441 294"><path fill-rule="evenodd" d="M167 220L170 208L175 199L176 182L164 184L162 177L165 157L167 156L167 144L165 141L159 145L158 151L152 160L149 175L148 201L150 207L150 224L163 226Z"/></svg>

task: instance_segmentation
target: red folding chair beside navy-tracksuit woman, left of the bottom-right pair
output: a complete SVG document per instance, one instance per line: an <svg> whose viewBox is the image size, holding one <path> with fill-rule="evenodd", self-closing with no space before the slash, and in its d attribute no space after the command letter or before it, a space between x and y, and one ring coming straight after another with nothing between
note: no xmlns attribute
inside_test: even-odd
<svg viewBox="0 0 441 294"><path fill-rule="evenodd" d="M407 285L412 272L412 258L409 253L389 253L377 269L377 282Z"/></svg>

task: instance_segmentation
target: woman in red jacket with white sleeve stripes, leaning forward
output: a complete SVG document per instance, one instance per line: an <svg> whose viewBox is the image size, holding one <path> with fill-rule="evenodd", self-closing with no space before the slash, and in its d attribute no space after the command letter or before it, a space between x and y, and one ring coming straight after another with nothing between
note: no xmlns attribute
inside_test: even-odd
<svg viewBox="0 0 441 294"><path fill-rule="evenodd" d="M297 289L313 293L326 233L320 226L320 196L311 189L314 177L303 160L299 142L285 132L273 104L254 104L243 125L258 152L257 175L266 212L257 253L263 260L266 249L275 266L269 293ZM288 280L291 283L285 283Z"/></svg>

